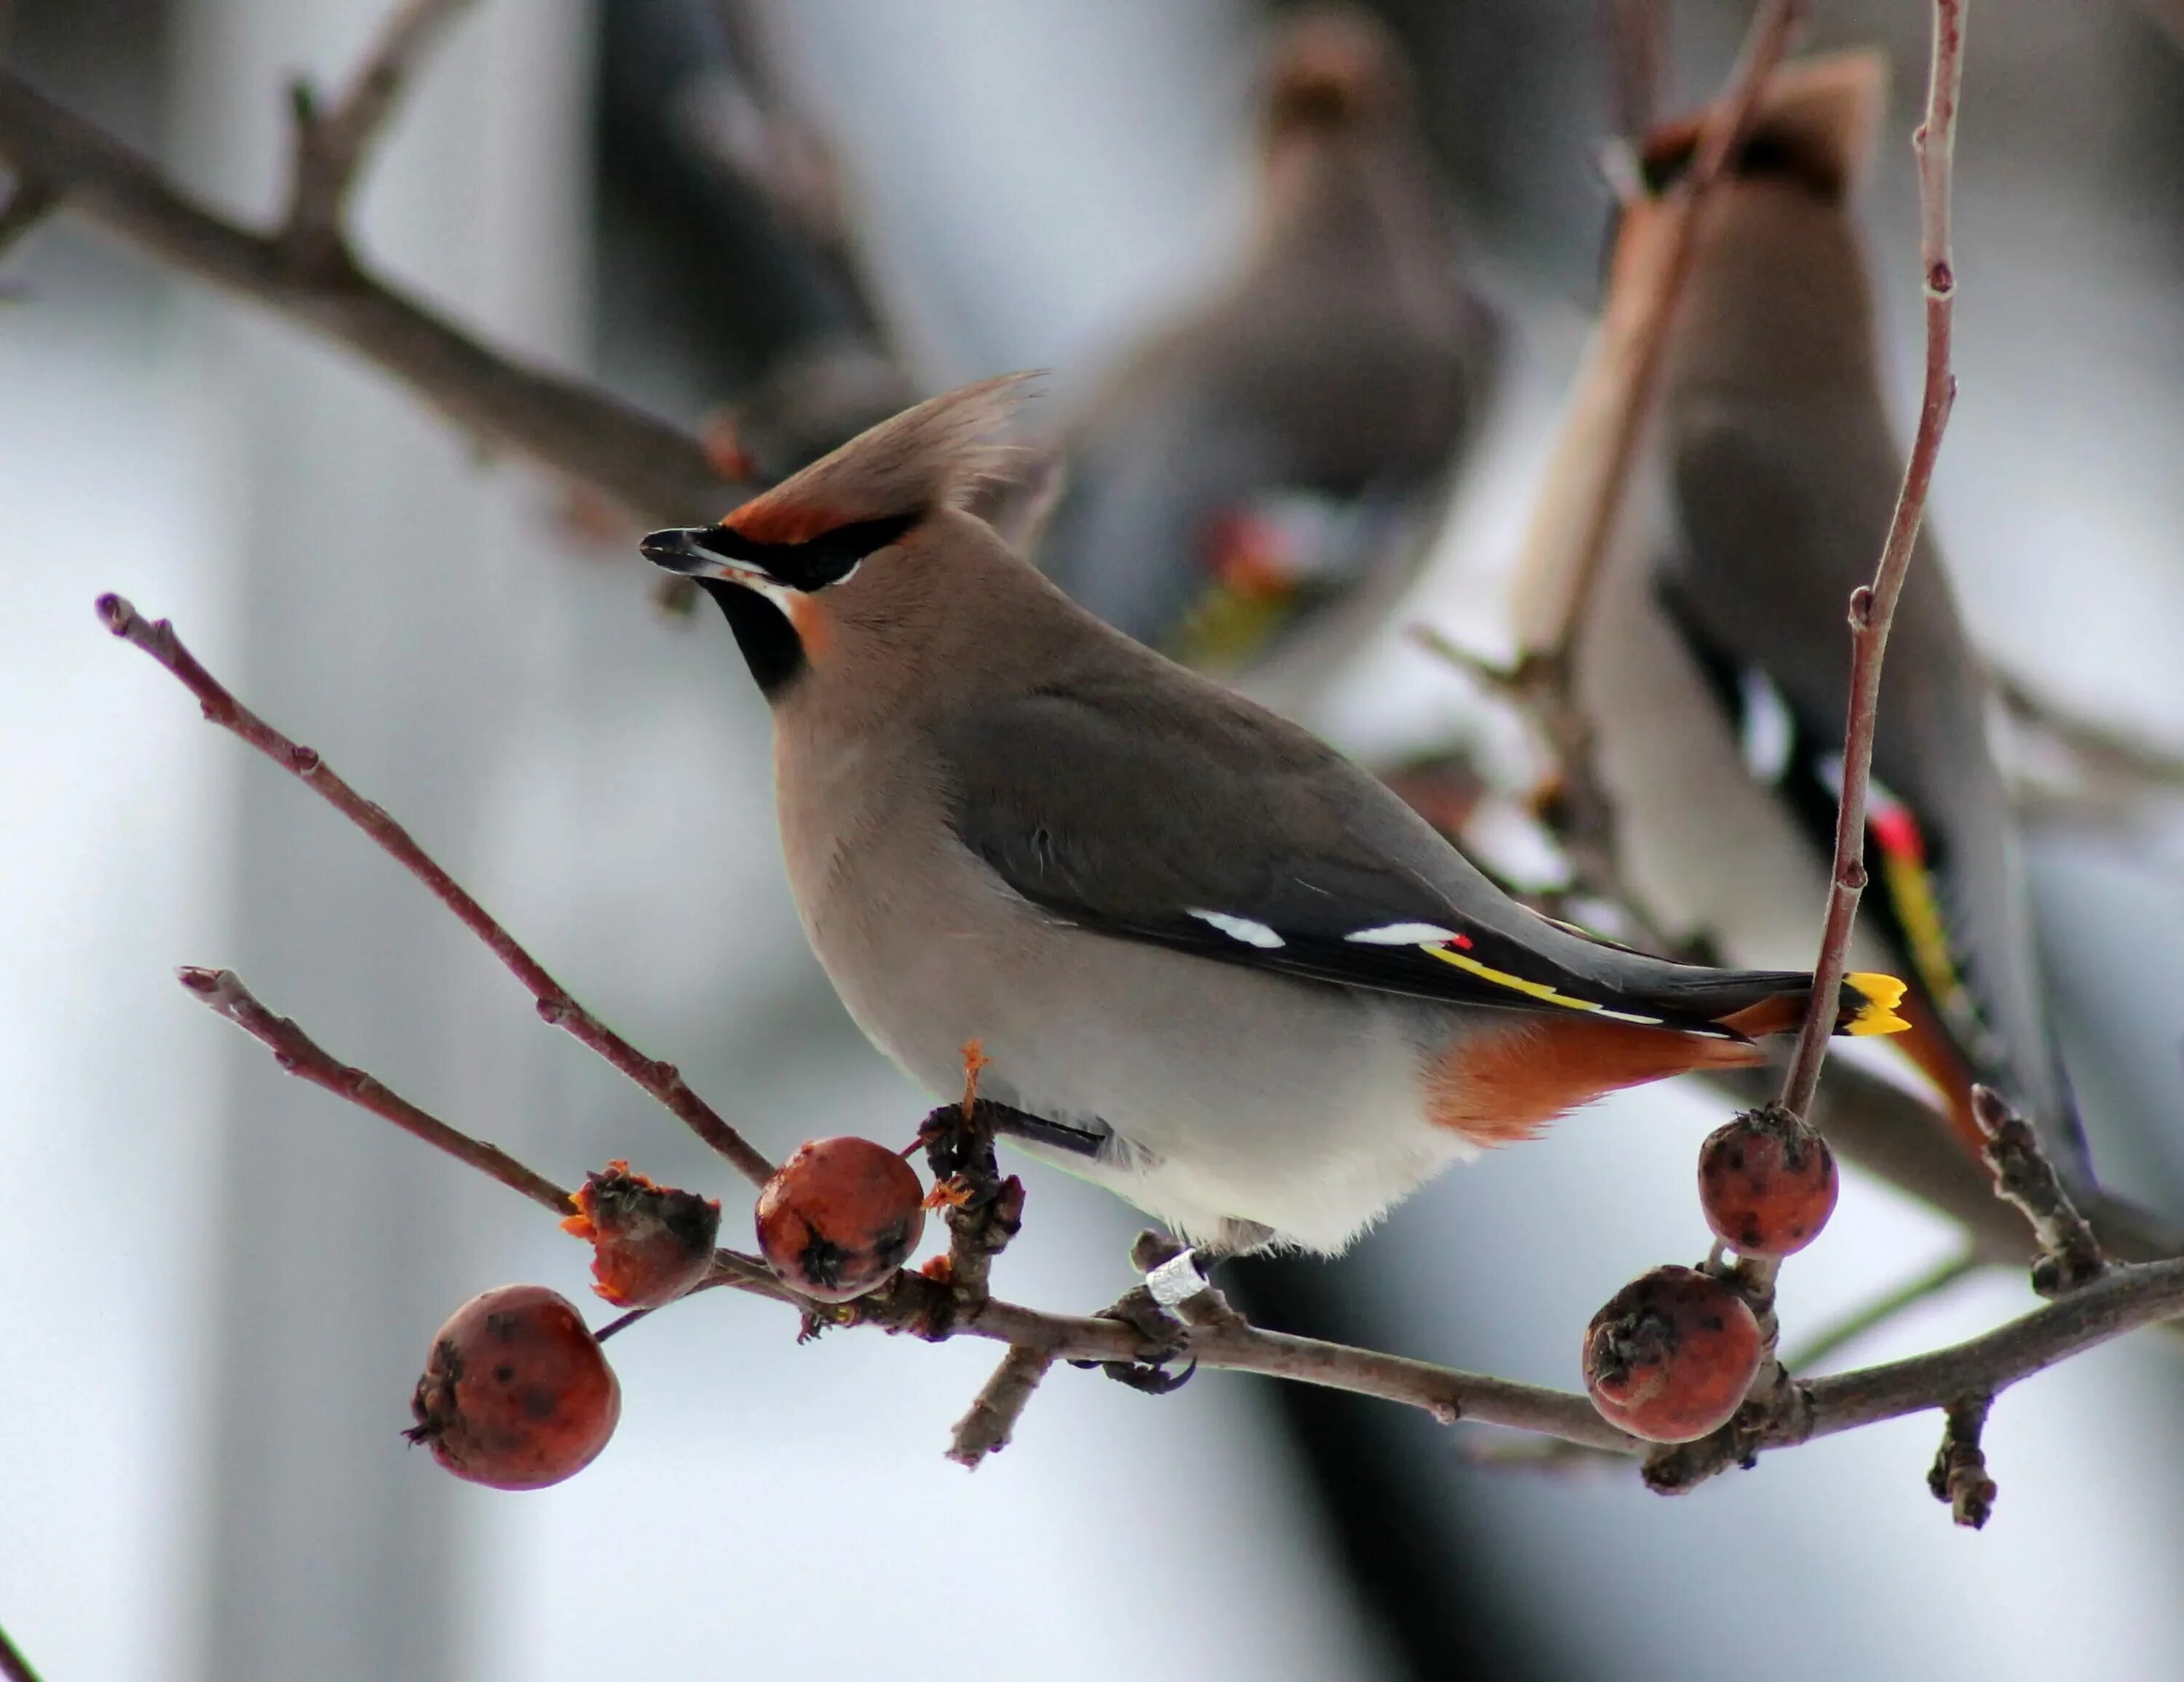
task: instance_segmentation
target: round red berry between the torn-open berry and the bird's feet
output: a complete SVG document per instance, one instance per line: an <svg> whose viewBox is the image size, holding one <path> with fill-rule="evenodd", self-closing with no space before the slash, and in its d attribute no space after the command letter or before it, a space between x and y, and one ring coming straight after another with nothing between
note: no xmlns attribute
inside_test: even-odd
<svg viewBox="0 0 2184 1682"><path fill-rule="evenodd" d="M917 1171L869 1138L815 1138L758 1193L758 1249L808 1298L878 1289L926 1230Z"/></svg>

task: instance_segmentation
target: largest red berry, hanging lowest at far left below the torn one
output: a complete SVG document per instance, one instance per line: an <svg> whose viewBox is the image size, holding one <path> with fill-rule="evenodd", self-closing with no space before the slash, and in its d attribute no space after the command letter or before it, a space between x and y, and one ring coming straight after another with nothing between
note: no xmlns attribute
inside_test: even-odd
<svg viewBox="0 0 2184 1682"><path fill-rule="evenodd" d="M411 1442L470 1483L544 1490L614 1435L622 1387L577 1306L544 1284L502 1284L456 1308L411 1398Z"/></svg>

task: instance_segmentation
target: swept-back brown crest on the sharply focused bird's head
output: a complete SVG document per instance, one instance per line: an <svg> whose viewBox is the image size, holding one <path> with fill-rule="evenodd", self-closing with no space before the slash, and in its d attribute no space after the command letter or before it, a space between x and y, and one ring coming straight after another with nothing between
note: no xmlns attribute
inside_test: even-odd
<svg viewBox="0 0 2184 1682"><path fill-rule="evenodd" d="M760 544L804 544L839 526L963 507L1007 476L1007 426L1037 374L1002 374L928 398L753 496L721 524Z"/></svg>

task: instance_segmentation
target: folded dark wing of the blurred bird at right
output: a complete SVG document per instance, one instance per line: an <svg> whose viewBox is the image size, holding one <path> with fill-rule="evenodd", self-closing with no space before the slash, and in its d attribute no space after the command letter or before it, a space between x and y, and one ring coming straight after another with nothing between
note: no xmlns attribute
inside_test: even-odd
<svg viewBox="0 0 2184 1682"><path fill-rule="evenodd" d="M1813 459L1813 439L1832 454ZM1690 404L1671 428L1682 548L1671 616L1738 716L1780 697L1780 784L1813 845L1832 845L1850 638L1900 463L1878 400L1815 419L1767 404ZM1933 544L1889 638L1874 749L1867 907L1981 1079L2051 1118L2084 1162L2044 1000L2016 821L1987 751L1983 668Z"/></svg>

